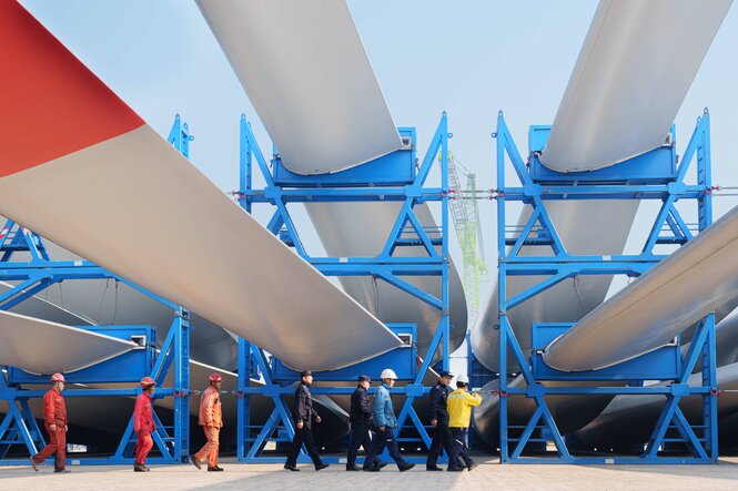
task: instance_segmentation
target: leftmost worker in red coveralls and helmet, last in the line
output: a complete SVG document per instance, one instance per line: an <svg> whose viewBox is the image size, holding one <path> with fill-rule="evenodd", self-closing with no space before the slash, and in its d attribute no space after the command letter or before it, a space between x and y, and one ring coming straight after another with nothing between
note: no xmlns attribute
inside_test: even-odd
<svg viewBox="0 0 738 491"><path fill-rule="evenodd" d="M43 426L49 433L49 444L36 456L31 457L31 468L39 471L39 463L43 462L52 453L54 472L71 472L67 469L67 405L61 392L64 390L64 376L54 374L51 376L51 389L43 395Z"/></svg>

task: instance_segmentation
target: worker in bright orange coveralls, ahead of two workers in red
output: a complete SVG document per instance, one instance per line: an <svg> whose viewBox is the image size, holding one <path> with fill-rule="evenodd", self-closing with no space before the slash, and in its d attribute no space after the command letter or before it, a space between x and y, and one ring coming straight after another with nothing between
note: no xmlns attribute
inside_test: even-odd
<svg viewBox="0 0 738 491"><path fill-rule="evenodd" d="M208 441L193 456L190 456L192 463L198 469L200 464L208 459L208 472L222 472L223 468L218 467L218 451L220 447L221 428L223 428L223 411L221 409L221 386L223 377L220 374L210 376L210 386L202 392L200 399L200 420L198 423L205 432Z"/></svg>

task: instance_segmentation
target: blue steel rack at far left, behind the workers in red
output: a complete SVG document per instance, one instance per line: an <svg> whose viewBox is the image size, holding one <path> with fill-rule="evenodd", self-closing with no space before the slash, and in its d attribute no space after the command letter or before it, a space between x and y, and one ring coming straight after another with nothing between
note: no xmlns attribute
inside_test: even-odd
<svg viewBox="0 0 738 491"><path fill-rule="evenodd" d="M185 157L189 156L190 135L188 124L182 123L179 114L169 134L168 141ZM156 380L154 399L174 398L173 424L164 426L156 418L158 430L153 434L154 448L161 457L149 459L151 463L184 463L190 449L190 323L189 313L143 288L97 266L88 260L59 262L50 259L43 239L28 228L7 221L0 231L0 280L20 282L0 295L0 310L8 310L53 284L75 279L114 279L122 282L138 291L160 301L172 309L173 320L161 349L155 349L156 330L149 326L79 326L109 336L130 340L133 337L145 339L141 347L128 354L103 361L93 367L67 374L71 383L133 383L135 388L115 389L69 389L64 397L135 397L141 393L138 381L143 376ZM12 260L17 253L28 253L31 260ZM173 387L162 387L166 375L173 371ZM8 403L8 413L0 422L0 466L27 464L28 459L6 458L12 446L24 446L34 454L43 448L44 440L33 418L29 399L41 398L46 390L29 390L21 385L46 385L48 376L36 376L19 368L7 367L0 374L0 400ZM101 415L102 416L102 415ZM121 436L115 453L108 458L68 458L68 463L85 464L131 464L132 450L137 437L133 434L133 420ZM70 442L71 443L71 442Z"/></svg>

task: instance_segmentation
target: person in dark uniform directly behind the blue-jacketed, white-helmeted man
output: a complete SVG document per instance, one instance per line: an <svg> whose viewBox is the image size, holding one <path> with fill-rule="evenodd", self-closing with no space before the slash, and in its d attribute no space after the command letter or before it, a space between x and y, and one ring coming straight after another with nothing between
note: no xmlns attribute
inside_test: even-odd
<svg viewBox="0 0 738 491"><path fill-rule="evenodd" d="M378 463L375 462L374 442L372 441L370 428L372 428L372 402L368 398L368 388L372 379L366 375L358 376L356 390L351 395L351 411L348 422L351 424L351 437L348 440L348 456L346 458L346 470L358 471L362 468L356 466L356 452L358 447L364 447L366 457L364 458L363 469L365 471L378 471Z"/></svg>

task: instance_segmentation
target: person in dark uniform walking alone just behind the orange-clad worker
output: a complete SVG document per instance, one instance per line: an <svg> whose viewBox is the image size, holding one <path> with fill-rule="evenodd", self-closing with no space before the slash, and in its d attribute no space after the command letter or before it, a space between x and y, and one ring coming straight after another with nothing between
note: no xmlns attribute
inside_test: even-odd
<svg viewBox="0 0 738 491"><path fill-rule="evenodd" d="M284 463L284 468L289 471L300 470L297 469L297 456L304 443L307 454L313 460L315 470L320 471L328 467L328 464L321 460L321 456L317 454L315 440L313 439L313 422L321 422L321 417L315 412L315 408L313 408L313 397L310 395L310 386L313 383L313 372L303 370L300 376L301 381L295 390L295 407L293 410L295 436L292 439L292 448L290 449L290 453L287 453L287 461Z"/></svg>

